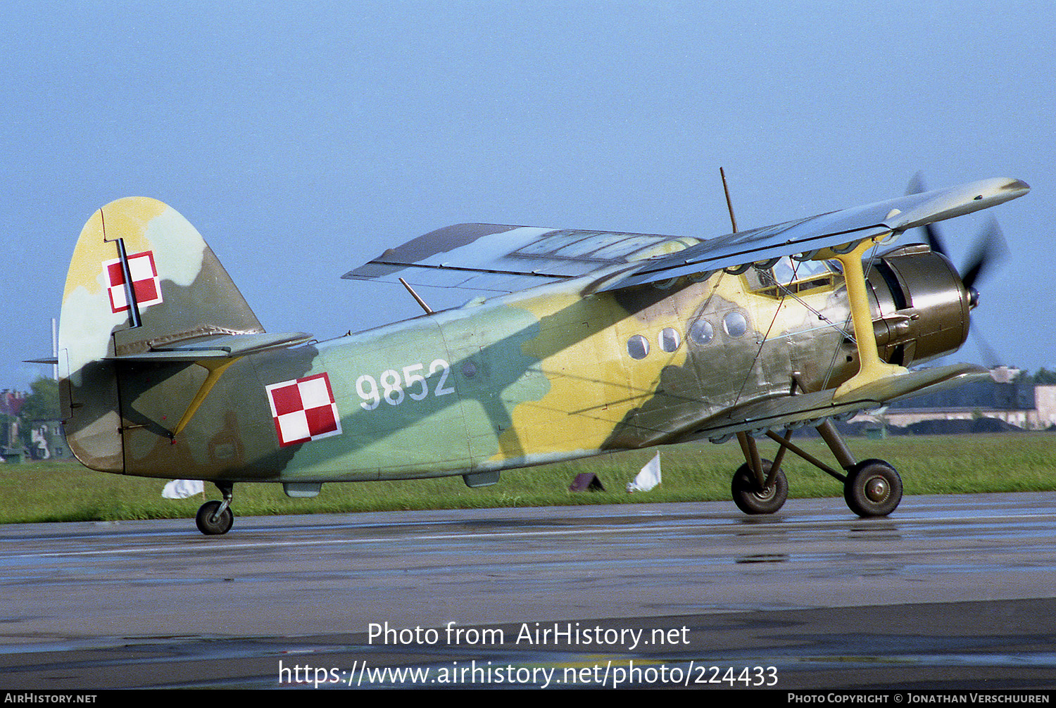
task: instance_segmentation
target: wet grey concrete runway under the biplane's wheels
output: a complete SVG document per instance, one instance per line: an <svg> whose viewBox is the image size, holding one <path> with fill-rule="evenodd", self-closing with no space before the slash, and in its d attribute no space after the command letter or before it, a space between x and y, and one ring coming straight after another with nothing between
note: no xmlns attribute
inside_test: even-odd
<svg viewBox="0 0 1056 708"><path fill-rule="evenodd" d="M1052 689L1054 541L1056 493L6 525L0 686Z"/></svg>

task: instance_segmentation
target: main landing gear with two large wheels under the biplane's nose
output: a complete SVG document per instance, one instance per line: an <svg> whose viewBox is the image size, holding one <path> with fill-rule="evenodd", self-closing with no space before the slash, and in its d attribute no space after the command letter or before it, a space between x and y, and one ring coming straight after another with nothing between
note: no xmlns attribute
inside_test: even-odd
<svg viewBox="0 0 1056 708"><path fill-rule="evenodd" d="M746 514L773 514L781 508L788 496L788 481L780 470L780 463L785 452L791 451L843 482L847 506L859 516L887 516L893 512L902 501L902 478L894 467L884 460L855 461L831 420L826 420L816 427L847 474L841 474L792 444L789 441L790 430L786 430L784 438L773 430L767 430L767 436L780 444L773 462L759 457L752 436L738 433L737 441L744 453L746 462L733 476L733 501L737 508Z"/></svg>

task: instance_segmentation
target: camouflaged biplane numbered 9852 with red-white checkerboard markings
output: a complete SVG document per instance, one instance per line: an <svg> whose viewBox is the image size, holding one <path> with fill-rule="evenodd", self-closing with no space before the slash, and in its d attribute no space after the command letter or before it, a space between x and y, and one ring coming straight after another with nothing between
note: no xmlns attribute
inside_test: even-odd
<svg viewBox="0 0 1056 708"><path fill-rule="evenodd" d="M978 293L938 248L876 254L908 229L1029 191L996 178L714 238L463 224L344 278L489 293L318 341L268 333L199 232L144 197L96 211L62 300L60 398L89 467L203 479L232 523L235 482L315 496L323 482L461 475L736 438L744 512L777 511L797 454L861 516L902 482L856 460L833 419L986 375L910 369L958 349ZM731 211L732 215L732 211ZM872 252L871 255L867 253ZM838 470L791 440L810 425ZM778 448L763 459L756 438Z"/></svg>

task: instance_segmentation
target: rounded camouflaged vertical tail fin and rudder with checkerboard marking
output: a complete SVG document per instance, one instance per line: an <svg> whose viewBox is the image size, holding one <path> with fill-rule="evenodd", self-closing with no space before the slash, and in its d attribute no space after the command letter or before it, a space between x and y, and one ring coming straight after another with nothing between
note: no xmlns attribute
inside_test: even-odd
<svg viewBox="0 0 1056 708"><path fill-rule="evenodd" d="M125 472L120 357L263 332L201 234L168 206L128 197L89 218L62 295L59 386L67 440L90 467Z"/></svg>

